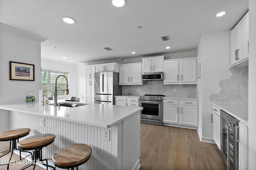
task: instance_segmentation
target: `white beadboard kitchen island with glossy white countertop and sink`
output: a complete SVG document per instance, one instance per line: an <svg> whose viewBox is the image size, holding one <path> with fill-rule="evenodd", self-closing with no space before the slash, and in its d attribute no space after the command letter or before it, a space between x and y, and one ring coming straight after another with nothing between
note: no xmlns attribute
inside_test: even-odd
<svg viewBox="0 0 256 170"><path fill-rule="evenodd" d="M84 143L92 147L92 155L80 169L140 168L142 107L104 104L54 107L23 103L0 105L0 109L9 111L9 129L30 128L28 136L41 133L56 135L54 143L43 149L44 158L51 158L56 150L66 145ZM107 137L106 132L109 133Z"/></svg>

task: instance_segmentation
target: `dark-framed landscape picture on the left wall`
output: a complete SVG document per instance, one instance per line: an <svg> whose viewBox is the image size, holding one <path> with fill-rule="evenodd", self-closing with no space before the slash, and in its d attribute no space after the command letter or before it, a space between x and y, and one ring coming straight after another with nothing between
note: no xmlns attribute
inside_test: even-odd
<svg viewBox="0 0 256 170"><path fill-rule="evenodd" d="M10 61L10 80L35 80L35 65Z"/></svg>

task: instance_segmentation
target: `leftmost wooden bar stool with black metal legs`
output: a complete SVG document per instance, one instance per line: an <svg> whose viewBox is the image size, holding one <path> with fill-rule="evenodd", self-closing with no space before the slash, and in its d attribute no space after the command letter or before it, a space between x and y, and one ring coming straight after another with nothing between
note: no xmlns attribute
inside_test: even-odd
<svg viewBox="0 0 256 170"><path fill-rule="evenodd" d="M0 155L0 158L1 158L2 156L5 156L6 154L12 152L10 159L8 161L8 164L1 164L1 165L7 165L7 170L9 169L10 160L12 158L13 151L17 150L17 143L19 142L19 139L28 135L29 132L30 132L29 128L19 128L19 129L3 131L0 133L0 141L10 141L9 151ZM21 159L21 154L20 154L20 159Z"/></svg>

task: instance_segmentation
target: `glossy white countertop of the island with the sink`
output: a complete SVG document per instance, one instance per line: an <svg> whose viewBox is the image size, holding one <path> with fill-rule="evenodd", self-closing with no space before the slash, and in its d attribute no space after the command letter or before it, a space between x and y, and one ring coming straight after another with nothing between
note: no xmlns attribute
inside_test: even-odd
<svg viewBox="0 0 256 170"><path fill-rule="evenodd" d="M109 128L142 110L142 107L88 104L78 107L42 106L38 102L0 105L0 109Z"/></svg>

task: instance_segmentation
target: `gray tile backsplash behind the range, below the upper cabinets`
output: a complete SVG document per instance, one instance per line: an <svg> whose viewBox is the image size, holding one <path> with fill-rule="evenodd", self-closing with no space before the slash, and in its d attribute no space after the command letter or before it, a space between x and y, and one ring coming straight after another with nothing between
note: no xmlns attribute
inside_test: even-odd
<svg viewBox="0 0 256 170"><path fill-rule="evenodd" d="M176 90L176 92L174 92ZM164 81L143 81L142 85L123 85L122 95L142 96L144 94L161 94L172 97L197 97L196 84L164 84Z"/></svg>

